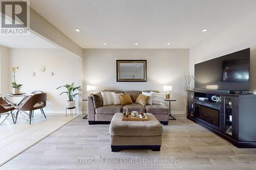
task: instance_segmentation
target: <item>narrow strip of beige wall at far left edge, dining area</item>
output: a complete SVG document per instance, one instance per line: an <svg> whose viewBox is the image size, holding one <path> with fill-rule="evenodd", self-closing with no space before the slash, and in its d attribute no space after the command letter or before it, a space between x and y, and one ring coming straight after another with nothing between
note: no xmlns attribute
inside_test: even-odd
<svg viewBox="0 0 256 170"><path fill-rule="evenodd" d="M10 48L0 45L0 94L9 92Z"/></svg>

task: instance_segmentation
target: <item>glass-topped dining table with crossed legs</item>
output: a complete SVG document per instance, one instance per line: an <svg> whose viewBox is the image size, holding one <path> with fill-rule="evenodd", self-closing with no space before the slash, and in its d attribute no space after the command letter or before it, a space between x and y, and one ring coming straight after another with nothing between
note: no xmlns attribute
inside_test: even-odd
<svg viewBox="0 0 256 170"><path fill-rule="evenodd" d="M32 93L28 93L28 94L26 94L26 93L20 93L20 94L8 93L7 95L1 95L0 97L3 98L3 100L6 101L9 105L13 106L15 108L15 111L13 113L16 113L17 109L19 109L19 107L22 106L22 104L25 103L32 95L33 95ZM13 101L16 101L17 103L14 103ZM24 119L29 120L28 112L19 111L18 113ZM15 116L15 114L13 114L13 115Z"/></svg>

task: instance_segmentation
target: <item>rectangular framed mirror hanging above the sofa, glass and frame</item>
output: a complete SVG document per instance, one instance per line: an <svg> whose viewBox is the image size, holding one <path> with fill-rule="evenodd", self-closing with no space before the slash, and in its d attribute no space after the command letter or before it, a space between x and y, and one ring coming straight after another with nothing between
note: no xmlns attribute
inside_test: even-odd
<svg viewBox="0 0 256 170"><path fill-rule="evenodd" d="M146 82L146 60L116 60L117 82Z"/></svg>

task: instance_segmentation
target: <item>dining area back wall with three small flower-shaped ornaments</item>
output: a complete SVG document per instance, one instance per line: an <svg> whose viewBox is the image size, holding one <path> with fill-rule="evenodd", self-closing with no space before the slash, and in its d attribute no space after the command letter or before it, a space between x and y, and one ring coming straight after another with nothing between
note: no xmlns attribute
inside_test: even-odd
<svg viewBox="0 0 256 170"><path fill-rule="evenodd" d="M47 93L48 103L46 112L65 113L67 94L59 95L66 89L56 90L58 86L75 83L76 86L81 83L81 58L75 57L61 49L10 49L10 65L18 66L16 81L23 84L23 92L41 90ZM40 72L41 66L46 67L45 72ZM32 77L31 71L36 75ZM50 76L50 71L54 72ZM6 72L11 72L10 69ZM11 88L12 74L7 87ZM80 100L76 97L76 104ZM80 110L81 111L81 110Z"/></svg>

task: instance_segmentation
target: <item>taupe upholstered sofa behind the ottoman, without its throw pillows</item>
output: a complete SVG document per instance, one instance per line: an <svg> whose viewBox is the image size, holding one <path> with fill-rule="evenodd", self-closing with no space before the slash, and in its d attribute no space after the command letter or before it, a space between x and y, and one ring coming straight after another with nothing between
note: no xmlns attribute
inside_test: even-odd
<svg viewBox="0 0 256 170"><path fill-rule="evenodd" d="M152 113L155 115L155 117L159 120L160 123L163 125L168 125L168 113L169 109L166 106L162 105L146 105L145 107L139 104L135 104L135 101L139 94L142 93L142 91L138 90L131 90L131 91L120 91L120 90L104 90L104 91L114 91L115 93L124 93L124 94L130 94L131 99L133 101L133 104L129 105L105 105L95 108L93 103L92 96L88 96L88 120L89 125L94 124L110 124L112 117L115 113L120 113L123 111L123 108L125 106L129 106L129 111L138 111L141 113ZM144 92L159 92L156 90L144 90Z"/></svg>

